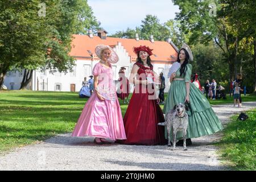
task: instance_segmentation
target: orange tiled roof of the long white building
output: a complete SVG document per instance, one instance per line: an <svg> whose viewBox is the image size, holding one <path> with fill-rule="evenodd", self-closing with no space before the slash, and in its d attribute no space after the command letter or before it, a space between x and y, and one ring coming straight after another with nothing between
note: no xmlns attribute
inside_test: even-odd
<svg viewBox="0 0 256 182"><path fill-rule="evenodd" d="M136 40L106 37L102 39L100 36L73 35L72 49L70 55L77 59L93 59L97 60L94 52L98 44L108 46L123 46L128 53L131 61L136 61L137 55L133 52L133 47L148 46L153 49L153 55L150 56L152 63L172 64L177 59L177 49L174 44L164 41Z"/></svg>

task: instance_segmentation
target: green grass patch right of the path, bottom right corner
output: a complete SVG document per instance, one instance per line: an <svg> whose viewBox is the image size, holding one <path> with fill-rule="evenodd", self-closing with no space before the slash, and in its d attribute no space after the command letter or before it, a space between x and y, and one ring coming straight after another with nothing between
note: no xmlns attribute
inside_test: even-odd
<svg viewBox="0 0 256 182"><path fill-rule="evenodd" d="M225 163L234 170L256 170L256 109L247 111L246 121L233 121L224 129L224 137L217 146Z"/></svg>

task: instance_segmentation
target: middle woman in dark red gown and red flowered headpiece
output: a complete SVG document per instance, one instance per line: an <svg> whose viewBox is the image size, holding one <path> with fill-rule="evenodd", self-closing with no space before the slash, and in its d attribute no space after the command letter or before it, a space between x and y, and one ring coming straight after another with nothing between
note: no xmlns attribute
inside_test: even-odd
<svg viewBox="0 0 256 182"><path fill-rule="evenodd" d="M148 72L153 72L150 55L152 49L146 46L134 47L137 62L133 65L129 81L135 85L133 96L126 110L123 123L125 125L126 140L122 144L157 145L166 144L164 127L158 126L164 122L163 112L159 106L159 98L154 92ZM154 80L154 76L151 77ZM151 80L151 81L150 81ZM153 92L152 89L153 88Z"/></svg>

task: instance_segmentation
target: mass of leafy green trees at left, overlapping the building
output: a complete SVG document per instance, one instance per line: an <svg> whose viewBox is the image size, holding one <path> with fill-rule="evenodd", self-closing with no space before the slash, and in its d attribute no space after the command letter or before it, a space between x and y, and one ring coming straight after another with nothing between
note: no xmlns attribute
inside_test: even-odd
<svg viewBox="0 0 256 182"><path fill-rule="evenodd" d="M38 0L5 0L0 8L0 85L11 69L24 69L21 89L30 82L34 69L67 72L75 64L68 54L72 34L99 27L85 0L43 5Z"/></svg>

